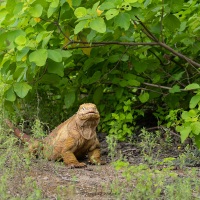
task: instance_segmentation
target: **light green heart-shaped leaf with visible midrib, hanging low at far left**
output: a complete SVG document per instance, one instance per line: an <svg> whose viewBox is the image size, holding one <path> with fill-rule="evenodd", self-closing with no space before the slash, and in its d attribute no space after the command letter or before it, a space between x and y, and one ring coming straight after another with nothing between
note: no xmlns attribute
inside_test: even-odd
<svg viewBox="0 0 200 200"><path fill-rule="evenodd" d="M29 90L32 88L28 83L26 82L19 82L13 84L14 91L17 94L18 97L24 98Z"/></svg>

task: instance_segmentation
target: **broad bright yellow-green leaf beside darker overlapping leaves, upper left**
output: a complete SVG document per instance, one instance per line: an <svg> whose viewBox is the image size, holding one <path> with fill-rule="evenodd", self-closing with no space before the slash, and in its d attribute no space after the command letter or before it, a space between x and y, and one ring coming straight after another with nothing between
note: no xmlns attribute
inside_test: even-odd
<svg viewBox="0 0 200 200"><path fill-rule="evenodd" d="M44 66L47 60L47 50L39 49L29 55L29 61L34 62L37 66Z"/></svg>

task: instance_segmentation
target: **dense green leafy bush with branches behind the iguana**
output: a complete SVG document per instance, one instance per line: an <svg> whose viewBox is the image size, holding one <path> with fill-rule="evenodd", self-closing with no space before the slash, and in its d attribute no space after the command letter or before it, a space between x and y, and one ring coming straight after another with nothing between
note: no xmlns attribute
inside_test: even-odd
<svg viewBox="0 0 200 200"><path fill-rule="evenodd" d="M200 146L198 0L6 0L0 8L9 112L54 126L90 101L101 131L118 139L155 116Z"/></svg>

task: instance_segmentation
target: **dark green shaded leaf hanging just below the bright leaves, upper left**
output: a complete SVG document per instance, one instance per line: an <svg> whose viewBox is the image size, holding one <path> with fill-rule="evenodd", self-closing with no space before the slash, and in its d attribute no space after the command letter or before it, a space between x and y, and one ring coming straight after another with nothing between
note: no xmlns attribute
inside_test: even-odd
<svg viewBox="0 0 200 200"><path fill-rule="evenodd" d="M64 66L63 63L56 63L54 61L48 62L47 71L52 74L57 74L60 77L64 76Z"/></svg>

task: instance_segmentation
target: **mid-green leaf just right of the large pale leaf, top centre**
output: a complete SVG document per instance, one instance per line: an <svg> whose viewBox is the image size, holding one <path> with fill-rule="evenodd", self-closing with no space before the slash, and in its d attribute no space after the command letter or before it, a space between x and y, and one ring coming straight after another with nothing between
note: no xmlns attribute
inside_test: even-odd
<svg viewBox="0 0 200 200"><path fill-rule="evenodd" d="M130 27L130 19L131 17L128 13L121 12L115 17L115 26L119 26L126 31Z"/></svg>

